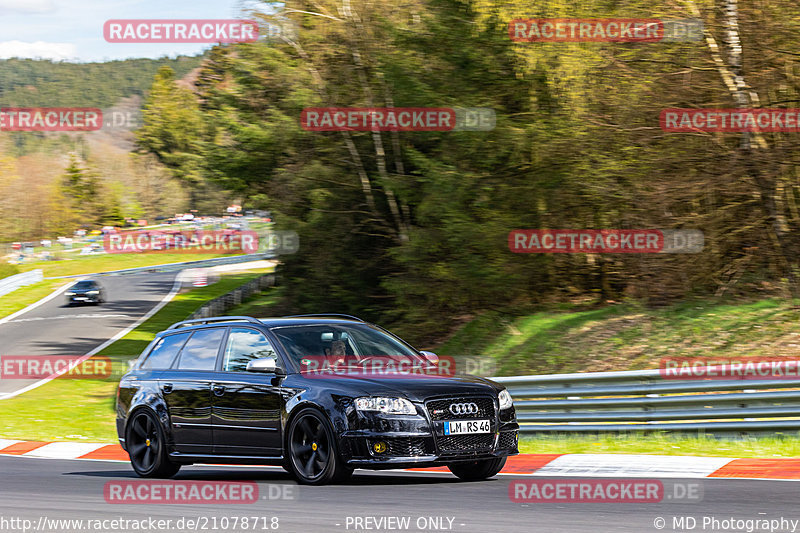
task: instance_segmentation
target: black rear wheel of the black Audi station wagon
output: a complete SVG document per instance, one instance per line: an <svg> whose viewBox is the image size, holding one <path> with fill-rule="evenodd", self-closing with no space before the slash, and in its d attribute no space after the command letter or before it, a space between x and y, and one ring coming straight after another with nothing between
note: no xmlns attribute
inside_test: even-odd
<svg viewBox="0 0 800 533"><path fill-rule="evenodd" d="M131 466L140 477L171 478L181 469L169 460L164 429L150 411L133 415L125 439Z"/></svg>

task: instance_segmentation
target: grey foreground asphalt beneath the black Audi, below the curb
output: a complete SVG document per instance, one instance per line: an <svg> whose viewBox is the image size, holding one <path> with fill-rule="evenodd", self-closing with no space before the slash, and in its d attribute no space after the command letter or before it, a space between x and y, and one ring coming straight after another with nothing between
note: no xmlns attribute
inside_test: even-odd
<svg viewBox="0 0 800 533"><path fill-rule="evenodd" d="M192 466L184 468L177 480L254 481L260 501L248 505L123 505L106 503L103 489L107 482L136 480L125 463L105 461L67 461L25 457L0 457L0 526L15 531L12 518L52 519L171 519L171 531L178 531L175 521L181 517L217 517L218 531L222 517L278 518L278 531L458 531L458 532L651 532L673 529L673 517L691 516L697 520L695 531L702 528L703 517L720 521L736 519L797 520L800 511L800 484L796 482L728 479L693 479L702 483L703 500L695 503L655 504L567 503L520 504L510 501L509 484L531 479L501 475L492 480L464 483L449 474L357 471L346 484L339 486L297 486L280 469L258 467ZM291 499L275 495L282 486L291 486ZM270 491L273 486L273 491ZM279 490L281 489L281 490ZM274 499L268 496L273 493ZM382 517L410 517L409 527L356 529L355 518L376 520ZM350 525L348 525L348 517ZM436 521L436 518L441 521ZM666 520L659 530L658 518ZM3 523L5 519L7 522ZM430 519L434 519L431 521ZM448 519L452 520L452 525ZM44 523L47 523L46 521ZM418 527L418 524L423 526ZM208 522L211 529L212 522ZM437 525L438 524L438 525ZM722 524L722 522L720 522ZM434 525L435 527L429 527ZM436 529L440 527L440 529ZM198 528L201 529L202 528ZM70 531L78 531L74 525ZM245 531L238 528L239 531ZM263 531L261 524L249 530ZM688 530L688 529L687 529ZM18 529L22 531L22 529ZM41 530L39 530L41 531ZM51 526L48 531L66 531ZM717 529L717 531L735 531ZM759 530L761 531L761 530ZM784 529L777 529L784 531ZM788 529L791 531L791 528Z"/></svg>

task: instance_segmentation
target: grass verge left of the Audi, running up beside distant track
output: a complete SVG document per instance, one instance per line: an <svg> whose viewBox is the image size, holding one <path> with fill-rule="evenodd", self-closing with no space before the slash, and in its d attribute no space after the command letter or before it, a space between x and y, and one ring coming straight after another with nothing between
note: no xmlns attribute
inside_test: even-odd
<svg viewBox="0 0 800 533"><path fill-rule="evenodd" d="M184 320L205 302L263 274L222 276L208 287L182 292L141 326L104 349L115 374L108 379L56 379L15 398L0 401L0 435L18 440L116 442L114 402L119 374L138 357L153 335Z"/></svg>

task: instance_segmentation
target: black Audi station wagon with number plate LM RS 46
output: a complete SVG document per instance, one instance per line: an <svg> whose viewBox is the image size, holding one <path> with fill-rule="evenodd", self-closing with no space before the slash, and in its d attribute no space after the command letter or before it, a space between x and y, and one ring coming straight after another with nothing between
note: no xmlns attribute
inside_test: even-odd
<svg viewBox="0 0 800 533"><path fill-rule="evenodd" d="M411 372L331 373L320 360ZM488 379L431 372L438 362L347 315L188 320L157 334L123 376L117 433L143 477L192 463L279 465L306 484L355 468L492 477L518 453L511 396Z"/></svg>

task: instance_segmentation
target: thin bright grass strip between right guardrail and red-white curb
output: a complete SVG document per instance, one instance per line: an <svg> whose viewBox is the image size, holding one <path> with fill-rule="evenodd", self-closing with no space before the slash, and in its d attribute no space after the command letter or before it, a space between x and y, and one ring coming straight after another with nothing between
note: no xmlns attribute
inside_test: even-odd
<svg viewBox="0 0 800 533"><path fill-rule="evenodd" d="M522 453L630 453L704 457L800 457L796 434L744 439L680 435L523 437Z"/></svg>

